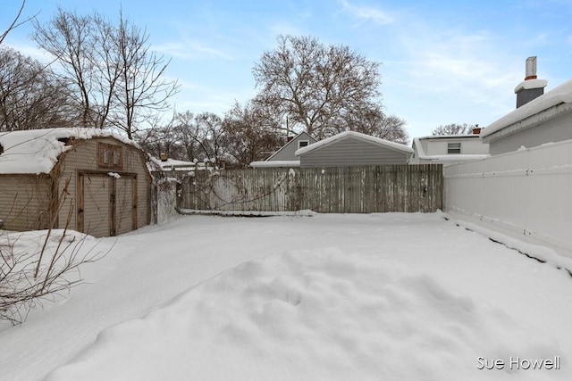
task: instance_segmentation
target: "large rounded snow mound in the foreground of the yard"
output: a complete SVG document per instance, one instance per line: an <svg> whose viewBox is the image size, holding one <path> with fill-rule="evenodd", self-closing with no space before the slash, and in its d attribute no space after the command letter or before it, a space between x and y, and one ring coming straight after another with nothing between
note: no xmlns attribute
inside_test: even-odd
<svg viewBox="0 0 572 381"><path fill-rule="evenodd" d="M561 356L531 332L399 261L314 249L248 261L105 329L47 380L557 379L509 369Z"/></svg>

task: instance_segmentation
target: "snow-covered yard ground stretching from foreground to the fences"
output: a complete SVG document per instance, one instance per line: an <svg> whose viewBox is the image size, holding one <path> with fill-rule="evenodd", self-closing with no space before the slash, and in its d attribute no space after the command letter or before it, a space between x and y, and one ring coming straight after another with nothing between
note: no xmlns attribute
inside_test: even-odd
<svg viewBox="0 0 572 381"><path fill-rule="evenodd" d="M185 216L94 244L88 284L0 327L1 380L572 379L570 260L441 213Z"/></svg>

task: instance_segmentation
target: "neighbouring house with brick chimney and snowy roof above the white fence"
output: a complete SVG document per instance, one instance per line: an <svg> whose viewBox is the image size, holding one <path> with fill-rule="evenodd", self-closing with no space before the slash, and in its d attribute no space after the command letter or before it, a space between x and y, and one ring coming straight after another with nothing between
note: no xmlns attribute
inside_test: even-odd
<svg viewBox="0 0 572 381"><path fill-rule="evenodd" d="M572 139L572 80L543 94L546 80L536 79L533 58L526 61L526 78L515 88L517 109L481 133L492 155Z"/></svg>

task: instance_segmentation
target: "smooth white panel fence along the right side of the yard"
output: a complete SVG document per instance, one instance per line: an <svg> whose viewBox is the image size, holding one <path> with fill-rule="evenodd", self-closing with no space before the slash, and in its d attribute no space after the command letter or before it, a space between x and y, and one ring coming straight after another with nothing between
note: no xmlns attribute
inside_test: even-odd
<svg viewBox="0 0 572 381"><path fill-rule="evenodd" d="M443 170L445 210L572 253L572 140Z"/></svg>

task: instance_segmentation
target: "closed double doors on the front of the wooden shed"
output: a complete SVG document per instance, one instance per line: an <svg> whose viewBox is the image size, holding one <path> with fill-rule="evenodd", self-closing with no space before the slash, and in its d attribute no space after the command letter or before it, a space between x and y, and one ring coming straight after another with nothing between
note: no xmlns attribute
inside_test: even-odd
<svg viewBox="0 0 572 381"><path fill-rule="evenodd" d="M137 228L137 176L80 173L78 230L91 236L116 236Z"/></svg>

